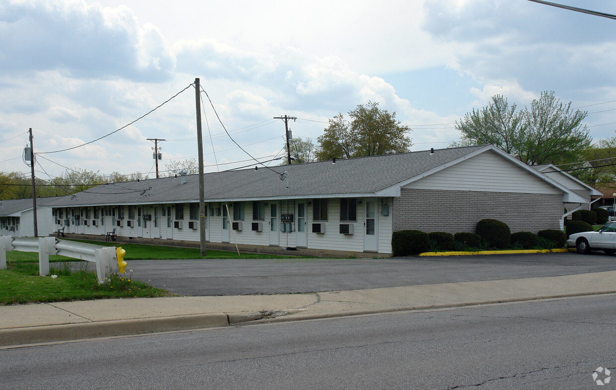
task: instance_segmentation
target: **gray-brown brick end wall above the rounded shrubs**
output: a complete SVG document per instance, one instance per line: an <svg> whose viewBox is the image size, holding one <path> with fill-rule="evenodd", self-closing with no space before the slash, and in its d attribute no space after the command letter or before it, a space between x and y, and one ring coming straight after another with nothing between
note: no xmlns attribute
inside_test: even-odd
<svg viewBox="0 0 616 390"><path fill-rule="evenodd" d="M402 189L394 198L392 227L423 232L475 232L484 218L498 219L511 232L560 229L562 195Z"/></svg>

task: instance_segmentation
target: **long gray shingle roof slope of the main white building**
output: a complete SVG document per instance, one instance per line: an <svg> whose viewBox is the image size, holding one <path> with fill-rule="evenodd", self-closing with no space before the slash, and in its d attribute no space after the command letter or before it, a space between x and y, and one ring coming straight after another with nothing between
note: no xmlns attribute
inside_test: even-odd
<svg viewBox="0 0 616 390"><path fill-rule="evenodd" d="M270 169L259 167L222 173L207 173L205 199L237 200L268 198L320 197L328 195L367 195L411 177L478 152L487 145L445 148L396 155L370 156L348 160L320 161L317 163L273 166L277 173L288 171L285 181ZM53 206L117 205L139 203L174 203L199 199L198 175L188 175L180 184L180 177L161 177L139 182L99 185L79 192L76 197L57 198ZM151 189L150 189L151 187ZM146 190L144 192L144 190ZM143 194L142 194L143 193Z"/></svg>

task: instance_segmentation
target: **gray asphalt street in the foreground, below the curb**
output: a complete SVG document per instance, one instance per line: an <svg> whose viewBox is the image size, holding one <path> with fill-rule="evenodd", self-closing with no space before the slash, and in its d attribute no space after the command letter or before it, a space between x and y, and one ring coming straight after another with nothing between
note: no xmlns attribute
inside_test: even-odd
<svg viewBox="0 0 616 390"><path fill-rule="evenodd" d="M611 295L98 339L0 350L0 388L609 389L615 328Z"/></svg>

